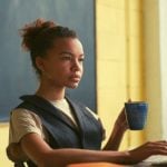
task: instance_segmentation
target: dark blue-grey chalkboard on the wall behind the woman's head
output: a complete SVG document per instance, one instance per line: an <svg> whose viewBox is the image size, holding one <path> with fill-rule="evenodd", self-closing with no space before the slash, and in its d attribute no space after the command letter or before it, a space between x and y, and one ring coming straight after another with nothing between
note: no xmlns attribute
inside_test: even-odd
<svg viewBox="0 0 167 167"><path fill-rule="evenodd" d="M86 61L82 81L68 90L96 110L94 0L2 0L0 2L0 121L9 120L10 110L26 94L33 94L38 80L29 55L21 49L19 29L37 18L53 20L75 29L84 45Z"/></svg>

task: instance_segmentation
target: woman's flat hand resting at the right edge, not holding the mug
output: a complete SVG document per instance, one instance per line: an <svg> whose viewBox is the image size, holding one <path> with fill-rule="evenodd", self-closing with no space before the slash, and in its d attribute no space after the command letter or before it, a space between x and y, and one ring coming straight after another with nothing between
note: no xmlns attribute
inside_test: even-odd
<svg viewBox="0 0 167 167"><path fill-rule="evenodd" d="M167 156L167 141L148 141L132 150L129 150L128 164L136 164L147 159L153 155Z"/></svg>

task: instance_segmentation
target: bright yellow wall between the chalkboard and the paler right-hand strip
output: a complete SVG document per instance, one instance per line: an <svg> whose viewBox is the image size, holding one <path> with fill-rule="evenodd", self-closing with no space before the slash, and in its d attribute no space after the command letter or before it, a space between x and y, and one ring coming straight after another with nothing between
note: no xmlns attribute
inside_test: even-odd
<svg viewBox="0 0 167 167"><path fill-rule="evenodd" d="M98 112L109 136L128 98L144 100L141 1L97 1ZM144 131L127 131L121 148L144 141Z"/></svg>

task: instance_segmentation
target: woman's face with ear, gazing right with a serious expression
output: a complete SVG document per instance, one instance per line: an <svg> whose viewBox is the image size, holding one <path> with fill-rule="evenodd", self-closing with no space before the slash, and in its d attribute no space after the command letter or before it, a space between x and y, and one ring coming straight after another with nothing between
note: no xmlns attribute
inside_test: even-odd
<svg viewBox="0 0 167 167"><path fill-rule="evenodd" d="M76 88L84 72L84 48L77 38L59 38L45 58L38 58L41 79L58 88Z"/></svg>

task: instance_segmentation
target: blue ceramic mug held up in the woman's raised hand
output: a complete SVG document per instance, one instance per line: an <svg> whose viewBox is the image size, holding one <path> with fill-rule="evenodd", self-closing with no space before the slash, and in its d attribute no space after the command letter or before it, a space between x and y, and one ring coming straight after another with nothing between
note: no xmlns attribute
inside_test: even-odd
<svg viewBox="0 0 167 167"><path fill-rule="evenodd" d="M126 118L130 130L143 130L146 125L148 104L145 101L125 102Z"/></svg>

